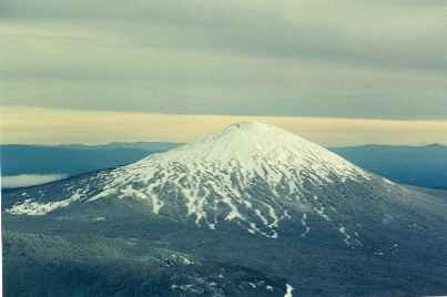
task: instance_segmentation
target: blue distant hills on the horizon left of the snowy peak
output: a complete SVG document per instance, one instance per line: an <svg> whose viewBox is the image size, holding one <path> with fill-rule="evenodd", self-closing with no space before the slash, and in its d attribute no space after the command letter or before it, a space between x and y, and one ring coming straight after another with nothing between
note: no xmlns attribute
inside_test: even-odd
<svg viewBox="0 0 447 297"><path fill-rule="evenodd" d="M150 154L179 146L175 143L110 143L87 146L81 144L38 146L2 145L3 176L19 174L77 175L101 168L115 167L139 161Z"/></svg>

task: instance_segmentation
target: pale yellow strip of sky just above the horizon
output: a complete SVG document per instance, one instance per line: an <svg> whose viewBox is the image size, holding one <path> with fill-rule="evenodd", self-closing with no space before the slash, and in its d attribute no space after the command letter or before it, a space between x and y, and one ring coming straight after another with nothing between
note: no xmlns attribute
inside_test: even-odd
<svg viewBox="0 0 447 297"><path fill-rule="evenodd" d="M447 121L176 115L3 106L1 143L190 142L242 121L285 129L324 146L447 144Z"/></svg>

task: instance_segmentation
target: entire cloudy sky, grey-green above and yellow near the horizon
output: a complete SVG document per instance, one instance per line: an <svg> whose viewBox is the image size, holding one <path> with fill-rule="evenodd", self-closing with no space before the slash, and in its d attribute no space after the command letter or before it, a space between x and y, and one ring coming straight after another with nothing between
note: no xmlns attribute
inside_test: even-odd
<svg viewBox="0 0 447 297"><path fill-rule="evenodd" d="M2 0L0 140L447 144L446 37L445 0Z"/></svg>

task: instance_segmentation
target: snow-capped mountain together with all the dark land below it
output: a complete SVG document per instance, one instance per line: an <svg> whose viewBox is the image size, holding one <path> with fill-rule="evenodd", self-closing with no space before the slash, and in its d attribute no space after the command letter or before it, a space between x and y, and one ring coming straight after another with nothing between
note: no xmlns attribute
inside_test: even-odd
<svg viewBox="0 0 447 297"><path fill-rule="evenodd" d="M11 296L447 294L445 191L237 123L2 196Z"/></svg>

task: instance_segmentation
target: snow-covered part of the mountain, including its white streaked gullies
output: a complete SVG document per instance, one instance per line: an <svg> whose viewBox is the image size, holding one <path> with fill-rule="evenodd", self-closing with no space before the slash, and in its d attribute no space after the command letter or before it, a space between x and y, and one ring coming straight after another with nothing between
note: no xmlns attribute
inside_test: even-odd
<svg viewBox="0 0 447 297"><path fill-rule="evenodd" d="M298 222L304 237L313 232L306 223L309 216L317 216L346 244L362 244L357 232L347 227L360 224L341 213L345 204L339 197L360 199L365 194L347 192L372 181L379 181L386 191L402 192L292 133L244 122L128 166L67 182L59 194L51 194L55 199L44 196L45 191L24 193L24 201L8 212L45 215L77 202L132 197L173 219L210 228L234 223L273 238L283 221Z"/></svg>

